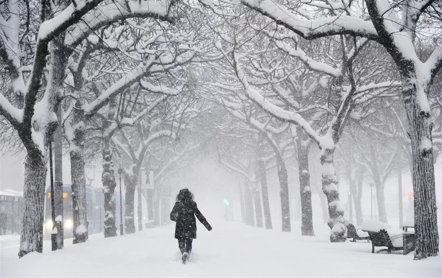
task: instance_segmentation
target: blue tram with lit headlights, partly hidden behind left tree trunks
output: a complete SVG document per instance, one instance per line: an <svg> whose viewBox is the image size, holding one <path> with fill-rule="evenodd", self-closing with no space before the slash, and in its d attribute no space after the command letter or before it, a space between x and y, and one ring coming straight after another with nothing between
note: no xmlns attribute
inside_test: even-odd
<svg viewBox="0 0 442 278"><path fill-rule="evenodd" d="M51 209L51 187L46 189L45 194L45 221L43 224L43 230L45 238L51 237L51 231L53 228L52 222L52 209ZM86 210L87 210L87 231L89 234L99 233L104 231L104 216L105 210L104 194L102 188L94 188L86 186ZM124 204L124 201L123 201ZM120 223L120 197L115 192L115 224L118 227ZM124 214L124 207L123 207ZM56 217L56 215L55 215ZM72 220L72 187L71 184L63 185L63 235L64 238L73 236L72 227L74 222Z"/></svg>

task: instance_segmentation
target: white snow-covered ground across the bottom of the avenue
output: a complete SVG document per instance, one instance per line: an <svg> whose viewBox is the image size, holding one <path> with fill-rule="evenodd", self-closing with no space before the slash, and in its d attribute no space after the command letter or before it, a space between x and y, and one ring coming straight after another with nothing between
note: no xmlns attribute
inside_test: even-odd
<svg viewBox="0 0 442 278"><path fill-rule="evenodd" d="M0 237L0 277L442 277L441 257L414 261L413 253L371 253L366 242L330 243L324 225L315 237L239 223L198 224L187 265L173 238L174 225L131 235L94 234L83 244L18 259L18 236ZM15 239L14 239L15 238Z"/></svg>

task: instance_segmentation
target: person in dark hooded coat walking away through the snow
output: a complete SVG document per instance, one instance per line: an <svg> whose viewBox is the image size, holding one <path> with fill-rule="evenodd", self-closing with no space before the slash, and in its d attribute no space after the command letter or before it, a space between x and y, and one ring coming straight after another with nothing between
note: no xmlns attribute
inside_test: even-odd
<svg viewBox="0 0 442 278"><path fill-rule="evenodd" d="M184 264L192 252L192 240L196 238L195 215L204 227L209 231L212 230L212 227L196 206L196 202L193 201L192 192L187 188L183 188L176 196L175 205L172 212L170 212L170 220L176 222L175 238L178 239L178 247L183 255Z"/></svg>

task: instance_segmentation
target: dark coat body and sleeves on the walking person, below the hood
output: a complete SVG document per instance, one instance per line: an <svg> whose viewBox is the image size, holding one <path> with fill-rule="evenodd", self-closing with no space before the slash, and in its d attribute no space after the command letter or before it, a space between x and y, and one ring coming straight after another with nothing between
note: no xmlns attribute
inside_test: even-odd
<svg viewBox="0 0 442 278"><path fill-rule="evenodd" d="M209 231L212 229L206 218L199 211L195 201L186 200L184 202L175 202L172 212L170 213L170 220L176 222L175 238L196 238L195 216Z"/></svg>

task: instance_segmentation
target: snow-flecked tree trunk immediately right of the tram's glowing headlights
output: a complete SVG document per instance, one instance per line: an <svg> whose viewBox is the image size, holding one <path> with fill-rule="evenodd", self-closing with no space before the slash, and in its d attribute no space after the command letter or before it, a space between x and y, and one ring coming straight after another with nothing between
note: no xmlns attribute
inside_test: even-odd
<svg viewBox="0 0 442 278"><path fill-rule="evenodd" d="M76 108L81 108L77 101ZM73 243L85 242L88 238L86 205L86 179L84 173L84 114L82 109L74 109L73 138L70 140L71 179L72 179L72 221Z"/></svg>

